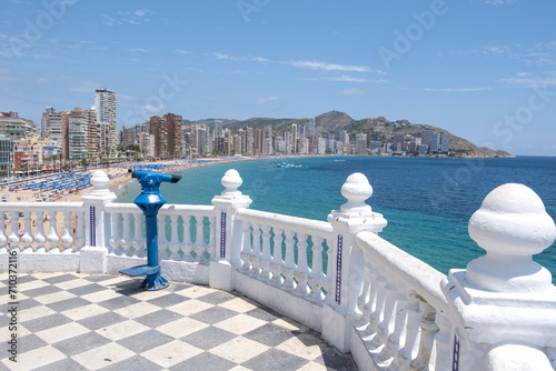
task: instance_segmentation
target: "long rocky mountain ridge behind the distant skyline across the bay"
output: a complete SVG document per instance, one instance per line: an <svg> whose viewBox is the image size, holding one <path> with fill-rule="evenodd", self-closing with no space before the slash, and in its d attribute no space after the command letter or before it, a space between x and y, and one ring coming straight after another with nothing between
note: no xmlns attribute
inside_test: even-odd
<svg viewBox="0 0 556 371"><path fill-rule="evenodd" d="M222 121L224 128L228 128L231 132L237 132L238 129L265 128L272 127L275 134L281 134L284 130L290 129L292 123L308 123L307 118L304 119L271 119L271 118L251 118L248 120L229 120L229 119L205 119L197 121L183 120L183 124L206 124L209 128L215 127L215 121ZM354 120L347 113L340 111L330 111L319 114L315 118L315 133L320 136L324 131L335 131L337 127L346 130L350 136L356 133L366 133L367 138L381 142L390 142L394 134L404 133L420 138L423 130L433 130L437 133L449 133L450 136L450 153L458 158L495 158L495 157L514 157L506 151L495 151L486 147L477 147L468 140L457 137L449 131L428 124L416 124L408 120L389 121L384 117L367 118L363 120Z"/></svg>

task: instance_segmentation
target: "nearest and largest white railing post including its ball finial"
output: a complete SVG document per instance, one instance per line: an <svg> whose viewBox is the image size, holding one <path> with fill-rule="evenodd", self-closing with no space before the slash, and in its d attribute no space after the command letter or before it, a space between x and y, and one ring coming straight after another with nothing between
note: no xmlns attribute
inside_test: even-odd
<svg viewBox="0 0 556 371"><path fill-rule="evenodd" d="M486 255L450 270L441 283L451 369L553 370L556 288L532 259L556 238L543 201L525 186L500 186L473 214L469 235Z"/></svg>

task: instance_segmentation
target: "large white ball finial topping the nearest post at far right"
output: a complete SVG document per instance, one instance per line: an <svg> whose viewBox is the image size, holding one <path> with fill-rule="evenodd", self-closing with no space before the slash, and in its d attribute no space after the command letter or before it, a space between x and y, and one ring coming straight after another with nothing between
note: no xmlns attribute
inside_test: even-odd
<svg viewBox="0 0 556 371"><path fill-rule="evenodd" d="M556 225L528 187L508 183L493 190L469 220L469 235L487 254L467 264L470 283L497 292L539 292L552 274L533 261L550 247Z"/></svg>

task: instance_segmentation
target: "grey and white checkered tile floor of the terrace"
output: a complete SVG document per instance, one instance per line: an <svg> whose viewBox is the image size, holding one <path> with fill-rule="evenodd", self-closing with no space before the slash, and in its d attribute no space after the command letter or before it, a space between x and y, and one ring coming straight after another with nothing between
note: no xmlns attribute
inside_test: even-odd
<svg viewBox="0 0 556 371"><path fill-rule="evenodd" d="M0 370L357 370L315 332L237 292L78 273L18 277L18 362L8 359L0 281Z"/></svg>

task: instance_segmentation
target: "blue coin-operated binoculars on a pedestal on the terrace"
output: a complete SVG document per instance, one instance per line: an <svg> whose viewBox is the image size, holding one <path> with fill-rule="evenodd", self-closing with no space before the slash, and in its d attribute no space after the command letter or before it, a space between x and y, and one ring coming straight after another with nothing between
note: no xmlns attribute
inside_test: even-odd
<svg viewBox="0 0 556 371"><path fill-rule="evenodd" d="M169 176L161 172L148 170L131 170L131 178L137 178L141 184L141 194L133 201L145 213L147 224L147 265L139 265L120 271L120 273L138 277L147 275L142 281L143 290L160 290L169 285L168 281L160 275L160 264L158 263L158 232L157 214L158 210L166 203L166 199L160 194L159 188L162 182L177 183L181 177ZM160 231L166 233L166 231Z"/></svg>

